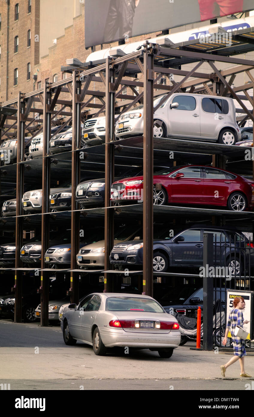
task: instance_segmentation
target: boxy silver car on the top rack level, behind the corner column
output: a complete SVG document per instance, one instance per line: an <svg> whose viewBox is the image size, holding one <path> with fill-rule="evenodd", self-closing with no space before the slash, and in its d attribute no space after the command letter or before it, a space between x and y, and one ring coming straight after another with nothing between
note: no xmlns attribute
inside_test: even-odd
<svg viewBox="0 0 254 417"><path fill-rule="evenodd" d="M165 95L154 100L154 107ZM143 135L143 106L123 113L115 136ZM234 145L241 140L232 98L217 95L174 93L154 112L154 137L187 138ZM162 123L160 123L162 122ZM161 125L161 126L160 126Z"/></svg>

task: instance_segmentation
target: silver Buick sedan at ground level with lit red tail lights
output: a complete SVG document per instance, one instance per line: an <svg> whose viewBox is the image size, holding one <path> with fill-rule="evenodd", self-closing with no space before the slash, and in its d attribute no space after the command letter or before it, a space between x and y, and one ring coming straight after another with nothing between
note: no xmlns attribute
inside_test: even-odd
<svg viewBox="0 0 254 417"><path fill-rule="evenodd" d="M93 293L62 314L65 344L77 340L92 345L96 355L107 347L132 347L172 356L181 341L179 324L152 297L134 294Z"/></svg>

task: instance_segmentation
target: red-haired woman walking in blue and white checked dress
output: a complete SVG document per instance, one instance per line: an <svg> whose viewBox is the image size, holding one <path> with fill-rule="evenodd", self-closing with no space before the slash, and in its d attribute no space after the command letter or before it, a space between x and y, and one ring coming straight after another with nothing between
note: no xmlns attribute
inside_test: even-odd
<svg viewBox="0 0 254 417"><path fill-rule="evenodd" d="M234 362L237 362L239 359L240 367L241 367L241 374L240 377L251 377L251 375L247 374L244 370L244 356L246 356L246 350L244 347L244 340L240 337L234 336L234 329L238 325L240 327L243 327L243 324L249 323L248 320L244 320L242 310L245 307L244 299L243 297L235 297L234 301L234 309L232 309L231 313L229 314L228 322L227 322L227 328L225 332L225 337L222 341L222 344L225 346L227 343L227 335L229 333L229 329L231 326L231 336L233 341L233 347L234 347L234 356L227 362L225 365L222 365L221 372L222 376L225 376L225 372L227 367L232 365Z"/></svg>

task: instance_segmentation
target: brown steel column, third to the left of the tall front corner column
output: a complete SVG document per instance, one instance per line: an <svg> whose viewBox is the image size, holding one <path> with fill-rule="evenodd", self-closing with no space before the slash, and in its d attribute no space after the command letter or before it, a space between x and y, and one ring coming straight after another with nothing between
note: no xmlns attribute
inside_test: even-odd
<svg viewBox="0 0 254 417"><path fill-rule="evenodd" d="M44 255L50 243L50 158L49 142L51 138L51 93L47 90L48 83L45 82L43 89L43 153L42 153L42 260L41 269L45 268ZM48 301L49 301L49 277L46 271L41 271L41 326L48 326Z"/></svg>

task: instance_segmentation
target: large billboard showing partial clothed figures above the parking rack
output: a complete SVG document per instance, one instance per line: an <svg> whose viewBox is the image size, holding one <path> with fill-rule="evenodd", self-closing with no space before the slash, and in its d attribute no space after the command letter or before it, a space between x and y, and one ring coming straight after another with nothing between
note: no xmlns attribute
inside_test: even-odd
<svg viewBox="0 0 254 417"><path fill-rule="evenodd" d="M85 0L85 47L253 9L253 0Z"/></svg>

